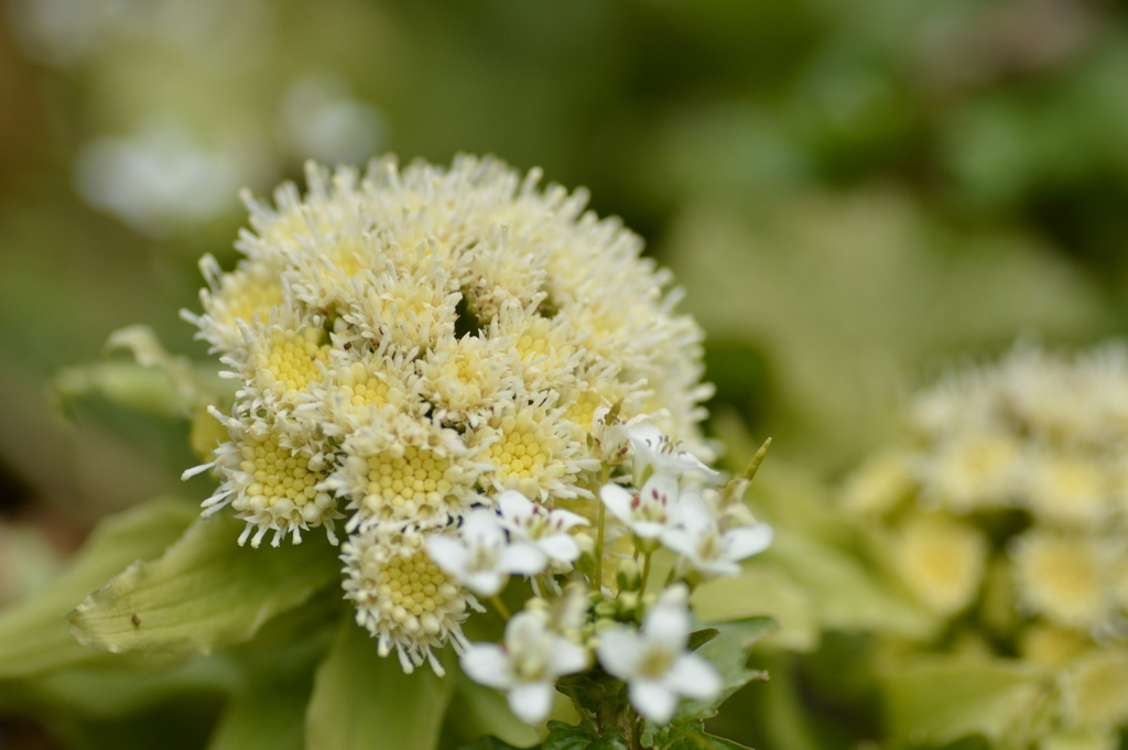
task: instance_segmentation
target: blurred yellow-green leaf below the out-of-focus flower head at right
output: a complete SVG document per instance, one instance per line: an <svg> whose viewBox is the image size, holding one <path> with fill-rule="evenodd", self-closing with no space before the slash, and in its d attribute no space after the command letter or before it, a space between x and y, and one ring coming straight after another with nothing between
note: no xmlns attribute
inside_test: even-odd
<svg viewBox="0 0 1128 750"><path fill-rule="evenodd" d="M891 665L880 681L890 733L918 744L1013 740L1037 723L1052 687L1051 674L1024 662L942 655Z"/></svg>

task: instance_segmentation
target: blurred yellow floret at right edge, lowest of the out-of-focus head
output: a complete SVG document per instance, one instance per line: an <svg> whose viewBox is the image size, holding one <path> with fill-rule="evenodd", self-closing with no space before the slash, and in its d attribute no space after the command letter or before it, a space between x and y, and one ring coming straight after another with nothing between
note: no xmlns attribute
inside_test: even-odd
<svg viewBox="0 0 1128 750"><path fill-rule="evenodd" d="M1094 650L1061 677L1063 718L1069 726L1099 727L1128 720L1128 652Z"/></svg>

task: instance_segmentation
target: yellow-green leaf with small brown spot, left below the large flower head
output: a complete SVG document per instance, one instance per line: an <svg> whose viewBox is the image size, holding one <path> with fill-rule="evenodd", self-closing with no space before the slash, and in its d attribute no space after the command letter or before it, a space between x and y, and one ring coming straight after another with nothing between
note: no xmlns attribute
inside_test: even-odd
<svg viewBox="0 0 1128 750"><path fill-rule="evenodd" d="M240 547L241 521L197 520L159 559L135 563L67 616L71 635L109 653L202 653L247 641L337 574L336 550L311 533L301 545Z"/></svg>

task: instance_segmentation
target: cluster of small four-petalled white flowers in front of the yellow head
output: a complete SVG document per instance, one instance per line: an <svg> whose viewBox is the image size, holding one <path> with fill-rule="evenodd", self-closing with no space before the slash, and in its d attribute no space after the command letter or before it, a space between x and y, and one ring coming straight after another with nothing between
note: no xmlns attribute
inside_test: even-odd
<svg viewBox="0 0 1128 750"><path fill-rule="evenodd" d="M588 588L575 583L567 591L557 588L555 617L547 614L553 605L550 592L545 592L510 619L503 645L474 644L462 656L470 678L508 690L513 713L530 723L548 715L556 680L585 670L592 653L608 674L627 683L635 709L656 724L670 720L681 696L715 697L721 690L716 669L687 651L687 582L735 575L740 561L772 542L770 527L757 523L732 492L697 488L699 475L713 471L678 450L650 418L605 426L605 447L619 456L619 467L629 469L622 480L641 485L607 483L600 489L603 505L629 540L619 553L624 556L616 575L619 591L605 589L598 572L589 577ZM615 449L616 441L624 451ZM742 489L740 480L735 484ZM587 519L564 510L545 511L515 492L502 494L499 504L499 513L484 510L467 517L457 537L428 540L432 558L453 580L490 597L501 591L509 574L563 571L580 558L580 545L569 531L587 527ZM606 537L602 531L600 538ZM651 555L660 545L679 555L675 567L679 580L655 600L640 601ZM599 565L616 557L609 546L594 555ZM634 563L640 555L645 561L641 573ZM585 610L592 593L600 605L589 619Z"/></svg>

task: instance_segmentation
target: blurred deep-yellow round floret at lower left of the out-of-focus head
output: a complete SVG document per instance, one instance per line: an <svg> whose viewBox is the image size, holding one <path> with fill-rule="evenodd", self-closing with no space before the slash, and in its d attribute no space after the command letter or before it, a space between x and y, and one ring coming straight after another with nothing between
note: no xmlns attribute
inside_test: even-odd
<svg viewBox="0 0 1128 750"><path fill-rule="evenodd" d="M899 530L893 555L897 570L920 600L950 616L967 608L979 591L987 540L967 523L919 515Z"/></svg>

